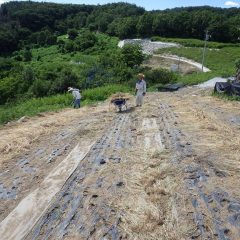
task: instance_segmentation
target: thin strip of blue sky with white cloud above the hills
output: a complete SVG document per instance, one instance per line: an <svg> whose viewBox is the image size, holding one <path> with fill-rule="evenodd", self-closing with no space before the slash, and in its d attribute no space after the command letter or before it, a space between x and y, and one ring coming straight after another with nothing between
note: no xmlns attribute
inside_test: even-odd
<svg viewBox="0 0 240 240"><path fill-rule="evenodd" d="M187 6L203 6L209 5L213 7L240 7L240 0L43 0L44 2L55 3L72 3L72 4L106 4L113 2L134 3L137 6L144 7L146 10L163 10L166 8L187 7ZM9 2L9 0L0 0L0 4ZM36 1L36 2L42 2Z"/></svg>

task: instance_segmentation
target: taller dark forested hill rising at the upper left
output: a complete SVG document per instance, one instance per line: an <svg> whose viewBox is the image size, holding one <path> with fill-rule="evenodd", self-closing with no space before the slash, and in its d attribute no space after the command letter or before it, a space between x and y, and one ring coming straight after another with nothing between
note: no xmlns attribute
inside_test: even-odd
<svg viewBox="0 0 240 240"><path fill-rule="evenodd" d="M9 2L0 8L0 52L28 44L55 44L56 36L69 29L88 27L106 32L114 19L137 17L143 8L118 3L103 6L37 2Z"/></svg>

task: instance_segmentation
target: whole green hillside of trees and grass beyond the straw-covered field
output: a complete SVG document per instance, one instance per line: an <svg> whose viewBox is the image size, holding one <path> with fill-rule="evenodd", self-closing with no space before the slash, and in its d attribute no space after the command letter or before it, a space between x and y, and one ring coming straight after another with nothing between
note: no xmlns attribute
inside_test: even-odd
<svg viewBox="0 0 240 240"><path fill-rule="evenodd" d="M181 24L180 24L181 23ZM240 10L212 7L145 11L127 3L73 5L8 2L0 6L0 122L71 106L67 87L80 88L84 104L133 89L144 72L148 87L195 84L235 73L240 58ZM122 38L178 42L161 50L201 62L201 39L211 33L205 64L210 73L188 75L142 67L147 56ZM155 37L153 37L155 36ZM97 88L95 90L95 88ZM94 97L96 96L96 97Z"/></svg>

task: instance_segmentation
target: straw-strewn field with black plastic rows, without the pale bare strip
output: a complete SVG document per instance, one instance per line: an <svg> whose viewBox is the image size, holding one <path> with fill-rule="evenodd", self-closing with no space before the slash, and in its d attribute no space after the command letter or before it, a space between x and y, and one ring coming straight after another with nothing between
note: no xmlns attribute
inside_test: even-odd
<svg viewBox="0 0 240 240"><path fill-rule="evenodd" d="M125 113L108 111L107 104L67 112L44 117L60 126L2 160L0 216L6 220L77 143L94 143L24 239L240 239L239 103L192 87L149 93L142 108ZM52 149L66 144L49 161ZM29 164L18 164L22 156ZM14 189L16 179L21 184ZM13 230L3 231L3 239L19 239L6 238Z"/></svg>

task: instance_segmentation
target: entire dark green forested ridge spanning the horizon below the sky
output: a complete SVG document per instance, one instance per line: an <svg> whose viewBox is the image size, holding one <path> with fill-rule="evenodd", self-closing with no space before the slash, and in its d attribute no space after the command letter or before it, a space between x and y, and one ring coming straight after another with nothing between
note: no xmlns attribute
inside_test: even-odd
<svg viewBox="0 0 240 240"><path fill-rule="evenodd" d="M95 6L9 2L0 8L0 52L55 44L58 35L81 28L120 38L158 35L202 39L204 31L209 30L213 41L237 42L240 9L206 6L148 12L127 3Z"/></svg>

